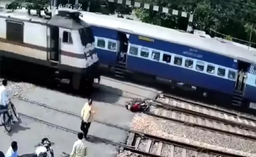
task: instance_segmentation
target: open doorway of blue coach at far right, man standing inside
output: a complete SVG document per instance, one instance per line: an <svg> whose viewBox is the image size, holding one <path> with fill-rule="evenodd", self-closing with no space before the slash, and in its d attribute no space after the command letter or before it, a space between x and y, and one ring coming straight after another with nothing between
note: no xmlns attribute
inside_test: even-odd
<svg viewBox="0 0 256 157"><path fill-rule="evenodd" d="M237 62L238 62L238 74L236 78L235 90L243 93L245 89L245 82L247 79L247 72L249 70L250 63L242 62L239 60Z"/></svg>

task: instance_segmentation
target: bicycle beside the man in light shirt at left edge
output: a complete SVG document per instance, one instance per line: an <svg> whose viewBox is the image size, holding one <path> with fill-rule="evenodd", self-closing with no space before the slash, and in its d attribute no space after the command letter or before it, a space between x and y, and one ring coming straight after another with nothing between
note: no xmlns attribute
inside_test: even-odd
<svg viewBox="0 0 256 157"><path fill-rule="evenodd" d="M16 111L16 108L11 102L11 100L8 103L8 108L1 110L0 113L3 114L3 124L5 130L9 133L11 131L11 122L13 122L13 115L15 115L17 120L20 120L20 117Z"/></svg>

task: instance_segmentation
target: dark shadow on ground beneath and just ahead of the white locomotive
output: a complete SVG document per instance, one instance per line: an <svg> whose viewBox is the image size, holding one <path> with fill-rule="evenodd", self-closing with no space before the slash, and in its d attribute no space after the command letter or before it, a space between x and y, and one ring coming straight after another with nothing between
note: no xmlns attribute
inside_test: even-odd
<svg viewBox="0 0 256 157"><path fill-rule="evenodd" d="M106 103L115 103L123 95L121 89L113 88L111 86L106 86L103 84L94 84L93 91L88 91L84 89L83 91L75 91L71 89L67 84L60 84L57 81L50 81L47 77L44 76L32 77L31 75L20 75L20 73L14 73L14 71L4 71L0 69L1 78L7 79L12 82L27 82L34 84L35 86L50 89L53 91L58 91L75 97L81 97L85 99L93 98L93 100L106 102ZM106 95L110 95L111 99L103 99Z"/></svg>

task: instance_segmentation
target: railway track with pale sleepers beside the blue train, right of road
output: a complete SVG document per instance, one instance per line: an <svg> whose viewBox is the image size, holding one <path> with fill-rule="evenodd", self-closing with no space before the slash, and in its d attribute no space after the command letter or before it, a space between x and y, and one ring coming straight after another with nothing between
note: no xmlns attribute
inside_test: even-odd
<svg viewBox="0 0 256 157"><path fill-rule="evenodd" d="M169 103L170 101L172 102ZM150 100L149 102L156 108L153 110L151 108L150 111L145 112L148 115L180 122L204 130L256 140L256 124L254 121L233 117L213 109L200 108L169 97L158 97L156 100ZM223 115L222 117L221 114Z"/></svg>

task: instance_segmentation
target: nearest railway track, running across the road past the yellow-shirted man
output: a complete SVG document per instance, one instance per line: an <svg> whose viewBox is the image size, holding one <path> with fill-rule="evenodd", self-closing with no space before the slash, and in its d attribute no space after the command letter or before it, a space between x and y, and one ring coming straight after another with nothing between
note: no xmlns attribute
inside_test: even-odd
<svg viewBox="0 0 256 157"><path fill-rule="evenodd" d="M78 114L71 113L69 111L59 110L58 108L54 108L52 106L48 106L46 104L42 104L42 103L39 103L39 102L24 99L24 98L21 98L21 97L18 97L17 99L29 102L29 103L34 104L34 105L42 106L42 107L45 107L45 108L48 108L48 109L51 109L51 110L55 110L55 111L58 111L58 112L61 112L61 113L65 113L65 114L68 114L68 115L73 115L75 117L80 117L80 115L78 115ZM58 126L56 124L52 124L50 122L46 122L46 121L41 120L41 119L30 117L30 116L24 115L22 113L19 113L19 114L22 117L40 122L42 124L46 124L46 125L54 127L54 128L58 128L58 129L61 129L61 130L64 130L64 131L68 131L70 133L78 133L78 131L75 131L75 130L72 130L72 129L69 129L69 128ZM95 137L95 136L92 136L92 135L88 135L89 141L101 141L101 142L104 142L104 143L107 143L107 144L112 144L112 145L121 147L123 150L128 150L128 151L131 151L131 152L134 152L134 153L137 153L137 154L145 155L147 157L163 157L163 156L161 156L161 152L163 151L163 149L166 146L170 146L171 149L169 151L171 152L171 154L174 153L174 148L175 147L181 147L182 148L182 156L181 157L186 157L187 151L191 151L191 150L195 152L194 153L195 157L197 157L198 152L205 152L205 153L208 153L209 155L215 155L215 156L217 155L217 156L221 156L221 157L234 157L234 156L236 156L236 157L245 157L243 155L235 155L235 154L231 154L231 153L221 152L221 151L218 151L218 150L213 150L213 149L210 149L210 148L203 148L203 147L200 147L200 146L193 146L191 144L186 144L186 143L182 143L182 142L178 142L178 141L173 141L173 140L170 140L170 139L164 139L164 138L161 138L161 137L156 137L156 136L153 136L153 135L150 135L150 134L147 134L147 133L142 133L142 132L130 130L130 129L127 129L127 128L123 128L121 126L109 124L109 123L102 122L102 121L99 121L99 120L95 120L95 122L104 124L106 126L118 128L118 129L121 129L121 130L125 130L125 131L128 132L129 137L128 137L128 140L127 140L126 144L113 142L113 141L110 141L108 139L103 139L103 138ZM140 148L140 145L143 141L147 141L147 146L146 146L145 149ZM156 150L156 151L154 151L154 150Z"/></svg>

